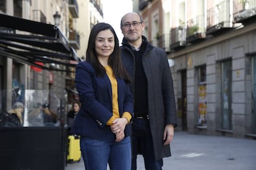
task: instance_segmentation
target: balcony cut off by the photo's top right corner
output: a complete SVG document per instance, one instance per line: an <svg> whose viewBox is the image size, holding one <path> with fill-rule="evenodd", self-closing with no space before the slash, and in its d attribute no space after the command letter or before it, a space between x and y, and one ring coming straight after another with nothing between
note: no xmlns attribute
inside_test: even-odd
<svg viewBox="0 0 256 170"><path fill-rule="evenodd" d="M233 1L234 22L244 22L251 17L256 17L256 0Z"/></svg>

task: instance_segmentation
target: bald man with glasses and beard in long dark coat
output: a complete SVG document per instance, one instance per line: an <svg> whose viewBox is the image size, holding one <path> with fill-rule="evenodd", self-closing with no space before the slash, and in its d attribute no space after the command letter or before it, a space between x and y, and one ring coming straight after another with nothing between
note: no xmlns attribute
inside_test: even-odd
<svg viewBox="0 0 256 170"><path fill-rule="evenodd" d="M122 17L121 57L134 78L132 169L137 169L137 155L142 154L145 168L157 170L163 166L163 158L171 156L169 144L177 126L176 103L166 53L142 36L144 26L143 18L135 12Z"/></svg>

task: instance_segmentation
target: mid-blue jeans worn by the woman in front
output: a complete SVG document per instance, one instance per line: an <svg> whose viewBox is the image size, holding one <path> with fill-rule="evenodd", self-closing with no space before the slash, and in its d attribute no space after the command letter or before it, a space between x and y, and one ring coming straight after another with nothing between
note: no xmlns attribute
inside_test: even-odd
<svg viewBox="0 0 256 170"><path fill-rule="evenodd" d="M106 170L108 164L111 170L131 168L130 137L125 137L121 142L105 142L81 137L80 148L87 170Z"/></svg>

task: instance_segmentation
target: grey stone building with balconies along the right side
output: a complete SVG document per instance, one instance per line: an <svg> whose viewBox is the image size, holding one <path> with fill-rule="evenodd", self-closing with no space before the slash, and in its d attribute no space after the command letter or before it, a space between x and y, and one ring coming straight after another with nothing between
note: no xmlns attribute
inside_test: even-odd
<svg viewBox="0 0 256 170"><path fill-rule="evenodd" d="M160 36L148 38L171 61L178 128L255 138L256 1L139 1L140 13L156 4Z"/></svg>

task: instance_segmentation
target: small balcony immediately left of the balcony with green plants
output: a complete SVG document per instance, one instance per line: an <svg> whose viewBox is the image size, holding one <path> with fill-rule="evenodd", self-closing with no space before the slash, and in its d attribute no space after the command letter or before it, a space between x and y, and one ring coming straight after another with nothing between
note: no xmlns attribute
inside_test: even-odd
<svg viewBox="0 0 256 170"><path fill-rule="evenodd" d="M171 29L170 50L184 47L186 45L186 26L178 26Z"/></svg>

